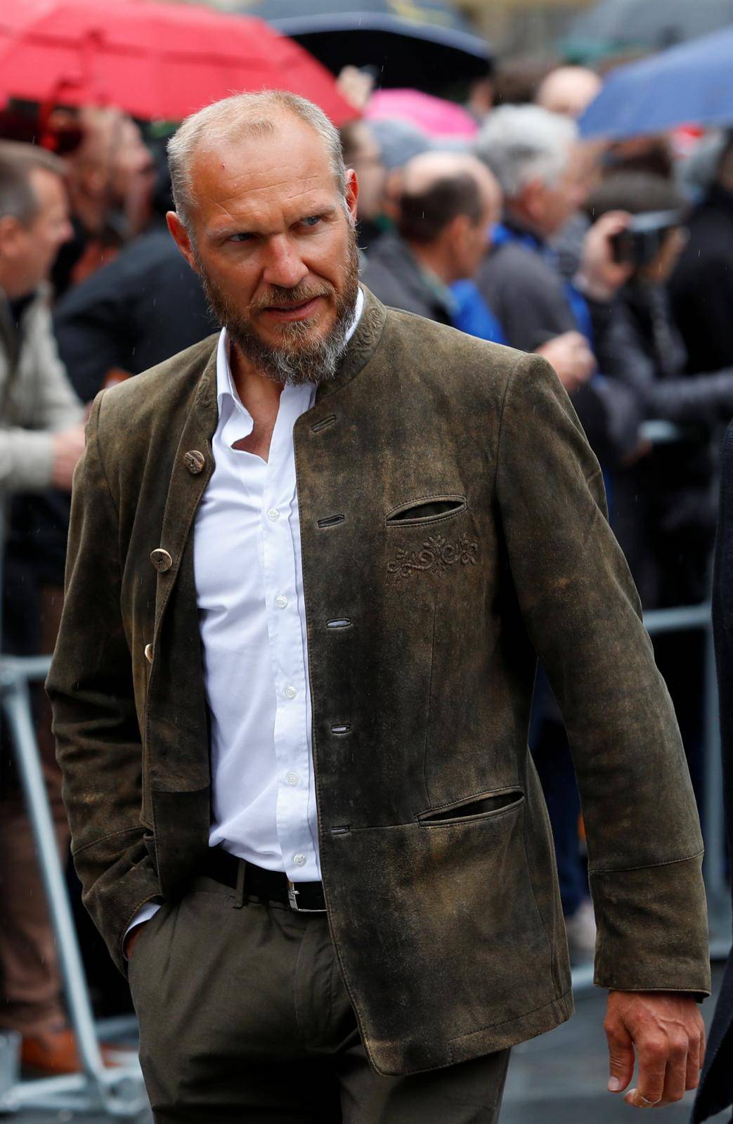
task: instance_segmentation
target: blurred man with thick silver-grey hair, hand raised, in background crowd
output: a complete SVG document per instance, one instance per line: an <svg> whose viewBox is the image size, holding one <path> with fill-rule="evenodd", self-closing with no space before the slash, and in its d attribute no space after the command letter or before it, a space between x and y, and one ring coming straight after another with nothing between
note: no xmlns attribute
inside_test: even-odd
<svg viewBox="0 0 733 1124"><path fill-rule="evenodd" d="M503 106L487 119L476 143L478 156L504 191L501 224L477 277L507 343L535 351L555 336L580 333L592 348L587 297L608 298L628 275L613 257L612 238L626 225L606 215L588 232L573 283L560 273L549 245L582 206L587 157L577 126L537 106ZM604 464L633 454L639 444L639 407L613 380L579 382L573 405Z"/></svg>

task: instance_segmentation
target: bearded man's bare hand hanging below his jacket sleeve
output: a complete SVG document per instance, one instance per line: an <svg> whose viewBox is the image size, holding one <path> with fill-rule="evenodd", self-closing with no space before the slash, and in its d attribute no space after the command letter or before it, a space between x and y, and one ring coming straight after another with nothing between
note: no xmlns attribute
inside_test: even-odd
<svg viewBox="0 0 733 1124"><path fill-rule="evenodd" d="M705 1058L699 1008L682 991L609 991L604 1023L608 1040L612 1093L639 1080L624 1100L636 1108L661 1108L696 1089Z"/></svg>

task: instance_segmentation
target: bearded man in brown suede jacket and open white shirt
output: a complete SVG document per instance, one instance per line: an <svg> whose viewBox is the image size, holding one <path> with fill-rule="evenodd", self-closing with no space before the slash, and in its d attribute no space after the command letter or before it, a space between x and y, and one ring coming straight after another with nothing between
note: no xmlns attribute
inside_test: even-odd
<svg viewBox="0 0 733 1124"><path fill-rule="evenodd" d="M386 309L302 99L170 145L225 327L99 396L48 690L155 1120L496 1121L572 1009L527 754L563 708L612 1089L697 1082L702 842L601 477L536 356Z"/></svg>

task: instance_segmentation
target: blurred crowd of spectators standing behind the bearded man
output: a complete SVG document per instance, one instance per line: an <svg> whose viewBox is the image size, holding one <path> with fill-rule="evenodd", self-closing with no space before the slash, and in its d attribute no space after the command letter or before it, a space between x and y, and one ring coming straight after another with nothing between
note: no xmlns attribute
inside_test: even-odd
<svg viewBox="0 0 733 1124"><path fill-rule="evenodd" d="M373 91L347 67L342 90L358 116L342 139L360 184L361 277L388 305L544 356L600 462L643 607L695 605L708 593L716 450L733 417L733 136L582 144L576 119L600 81L581 67L515 63L458 106ZM53 649L88 405L217 327L165 228L164 137L89 107L52 116L44 139L19 143L6 129L0 142L2 644L16 654ZM699 794L703 642L688 633L654 643ZM40 692L35 707L65 854ZM582 822L542 671L532 750L571 951L582 959L595 940ZM71 874L70 886L76 895ZM26 1064L73 1068L8 744L0 896L0 1027L22 1034ZM78 922L98 1006L124 1008L124 985L81 908Z"/></svg>

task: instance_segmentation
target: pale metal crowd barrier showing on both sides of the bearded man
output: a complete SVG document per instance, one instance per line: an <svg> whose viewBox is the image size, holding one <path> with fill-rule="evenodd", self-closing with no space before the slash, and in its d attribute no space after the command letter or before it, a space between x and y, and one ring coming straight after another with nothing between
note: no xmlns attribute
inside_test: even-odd
<svg viewBox="0 0 733 1124"><path fill-rule="evenodd" d="M711 606L706 602L686 608L658 609L644 616L644 624L652 636L693 629L703 629L706 634L703 869L708 900L711 954L715 959L725 958L731 946L731 897L725 869L723 774ZM17 1064L19 1041L13 1043L12 1036L6 1035L6 1058L3 1060L0 1057L0 1113L35 1107L101 1111L114 1116L130 1117L141 1113L147 1104L143 1077L136 1059L115 1068L106 1068L102 1062L100 1028L93 1019L33 725L29 683L44 680L49 663L48 656L0 656L0 707L8 724L33 823L56 935L69 1017L76 1035L82 1069L81 1072L69 1076L20 1081ZM592 967L573 969L572 985L576 991L591 987Z"/></svg>

